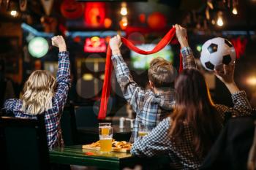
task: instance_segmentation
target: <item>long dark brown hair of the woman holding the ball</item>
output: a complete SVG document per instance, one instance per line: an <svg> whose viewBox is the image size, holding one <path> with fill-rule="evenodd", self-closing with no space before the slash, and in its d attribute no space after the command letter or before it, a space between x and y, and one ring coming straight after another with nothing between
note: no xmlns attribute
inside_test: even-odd
<svg viewBox="0 0 256 170"><path fill-rule="evenodd" d="M219 116L203 75L197 69L184 69L176 83L176 107L170 128L171 139L184 139L184 125L192 129L195 154L203 157L220 131Z"/></svg>

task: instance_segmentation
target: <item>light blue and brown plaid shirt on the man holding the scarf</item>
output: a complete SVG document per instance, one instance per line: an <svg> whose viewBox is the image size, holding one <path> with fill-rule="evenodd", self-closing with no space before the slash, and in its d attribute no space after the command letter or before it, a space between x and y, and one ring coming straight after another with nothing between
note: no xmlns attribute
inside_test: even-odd
<svg viewBox="0 0 256 170"><path fill-rule="evenodd" d="M190 47L181 49L184 69L195 68L195 59ZM124 98L131 104L136 112L135 125L130 142L138 137L138 125L143 124L154 128L169 115L172 110L174 90L153 93L151 90L143 90L132 80L127 64L121 55L112 56L113 66L116 70L116 78L124 94Z"/></svg>

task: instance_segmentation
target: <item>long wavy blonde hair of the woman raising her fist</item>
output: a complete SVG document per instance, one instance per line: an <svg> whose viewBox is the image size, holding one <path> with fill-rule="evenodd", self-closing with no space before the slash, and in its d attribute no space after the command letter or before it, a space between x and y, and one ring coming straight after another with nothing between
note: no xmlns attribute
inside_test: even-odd
<svg viewBox="0 0 256 170"><path fill-rule="evenodd" d="M22 110L29 115L39 115L53 107L52 98L56 89L56 78L45 70L34 71L23 88Z"/></svg>

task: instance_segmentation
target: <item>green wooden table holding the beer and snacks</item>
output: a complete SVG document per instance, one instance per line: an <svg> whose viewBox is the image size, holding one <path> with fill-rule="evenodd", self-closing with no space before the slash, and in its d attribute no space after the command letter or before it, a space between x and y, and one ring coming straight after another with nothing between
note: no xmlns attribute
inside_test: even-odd
<svg viewBox="0 0 256 170"><path fill-rule="evenodd" d="M50 162L78 166L94 166L100 169L118 170L138 164L142 166L147 165L151 169L159 169L160 166L168 162L168 159L166 157L137 158L127 152L100 152L97 150L82 149L81 145L76 145L50 150Z"/></svg>

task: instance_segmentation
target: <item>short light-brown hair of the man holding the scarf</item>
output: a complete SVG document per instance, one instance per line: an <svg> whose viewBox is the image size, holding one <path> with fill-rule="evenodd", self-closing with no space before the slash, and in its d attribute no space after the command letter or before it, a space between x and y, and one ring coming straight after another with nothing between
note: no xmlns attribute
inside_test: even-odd
<svg viewBox="0 0 256 170"><path fill-rule="evenodd" d="M164 58L154 58L148 69L148 79L156 88L171 88L177 72L169 61Z"/></svg>

